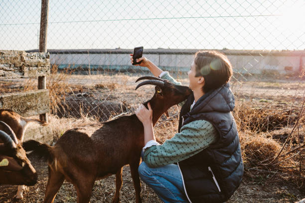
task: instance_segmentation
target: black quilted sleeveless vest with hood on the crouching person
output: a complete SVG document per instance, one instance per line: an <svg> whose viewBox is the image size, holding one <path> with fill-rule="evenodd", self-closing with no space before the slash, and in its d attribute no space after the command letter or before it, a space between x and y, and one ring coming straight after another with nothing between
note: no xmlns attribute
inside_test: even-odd
<svg viewBox="0 0 305 203"><path fill-rule="evenodd" d="M206 120L218 131L217 141L194 156L180 161L179 169L187 198L192 203L222 203L239 187L244 172L239 137L231 111L235 106L229 84L210 91L193 106L191 95L182 106L181 126Z"/></svg>

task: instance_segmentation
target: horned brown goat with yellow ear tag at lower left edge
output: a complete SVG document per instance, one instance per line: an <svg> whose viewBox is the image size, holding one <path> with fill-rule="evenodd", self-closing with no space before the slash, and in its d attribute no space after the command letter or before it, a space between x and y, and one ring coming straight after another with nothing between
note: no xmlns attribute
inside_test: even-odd
<svg viewBox="0 0 305 203"><path fill-rule="evenodd" d="M20 142L6 123L0 121L0 126L0 185L35 185L37 173Z"/></svg>

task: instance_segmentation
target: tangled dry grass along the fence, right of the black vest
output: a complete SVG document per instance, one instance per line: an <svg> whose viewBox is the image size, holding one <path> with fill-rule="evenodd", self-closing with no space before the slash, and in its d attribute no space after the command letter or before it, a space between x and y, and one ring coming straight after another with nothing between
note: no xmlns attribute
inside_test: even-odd
<svg viewBox="0 0 305 203"><path fill-rule="evenodd" d="M266 181L269 177L287 180L304 188L304 99L303 105L293 110L272 107L258 107L250 101L236 103L233 114L239 129L246 175L252 180L258 176L265 177ZM253 168L257 170L249 170Z"/></svg>

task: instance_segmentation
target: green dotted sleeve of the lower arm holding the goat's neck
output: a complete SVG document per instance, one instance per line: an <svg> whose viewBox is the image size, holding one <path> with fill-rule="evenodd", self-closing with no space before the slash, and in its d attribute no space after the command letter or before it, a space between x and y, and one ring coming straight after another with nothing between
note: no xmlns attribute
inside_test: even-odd
<svg viewBox="0 0 305 203"><path fill-rule="evenodd" d="M160 167L187 159L216 141L218 132L206 120L195 120L181 127L171 139L162 145L154 145L144 152L149 167Z"/></svg>

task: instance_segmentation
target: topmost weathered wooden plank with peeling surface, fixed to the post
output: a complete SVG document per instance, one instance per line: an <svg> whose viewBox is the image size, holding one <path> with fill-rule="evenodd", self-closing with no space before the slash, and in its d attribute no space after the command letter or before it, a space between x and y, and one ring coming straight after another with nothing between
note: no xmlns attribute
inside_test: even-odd
<svg viewBox="0 0 305 203"><path fill-rule="evenodd" d="M0 79L29 78L49 74L49 53L0 50Z"/></svg>

